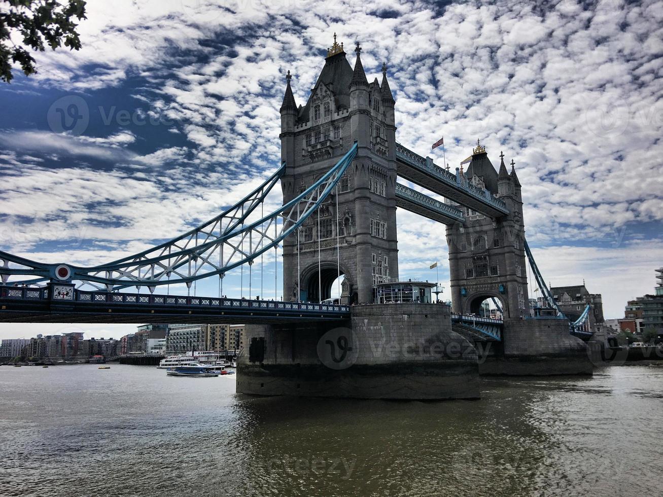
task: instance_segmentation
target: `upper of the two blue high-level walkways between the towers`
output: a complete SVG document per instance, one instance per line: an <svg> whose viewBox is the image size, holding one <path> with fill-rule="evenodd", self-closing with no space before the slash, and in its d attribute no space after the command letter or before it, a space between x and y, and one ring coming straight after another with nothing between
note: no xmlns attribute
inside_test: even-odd
<svg viewBox="0 0 663 497"><path fill-rule="evenodd" d="M399 143L396 143L396 164L397 174L401 178L452 199L455 203L493 219L509 214L509 208L502 199L493 197L488 190L482 190L465 178L436 166L430 158L424 158Z"/></svg>

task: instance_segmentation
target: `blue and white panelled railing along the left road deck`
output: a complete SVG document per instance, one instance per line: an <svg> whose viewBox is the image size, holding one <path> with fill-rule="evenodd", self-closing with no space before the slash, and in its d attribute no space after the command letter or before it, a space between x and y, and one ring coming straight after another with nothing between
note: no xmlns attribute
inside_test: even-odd
<svg viewBox="0 0 663 497"><path fill-rule="evenodd" d="M1 288L0 298L16 300L48 300L48 288ZM66 301L61 301L66 302ZM312 304L310 302L281 302L278 300L249 300L218 297L192 297L178 295L130 294L124 292L86 292L74 290L74 298L70 302L90 304L131 304L131 305L158 305L158 306L202 306L225 307L231 309L253 310L298 310L298 311L325 311L335 313L349 313L348 305Z"/></svg>

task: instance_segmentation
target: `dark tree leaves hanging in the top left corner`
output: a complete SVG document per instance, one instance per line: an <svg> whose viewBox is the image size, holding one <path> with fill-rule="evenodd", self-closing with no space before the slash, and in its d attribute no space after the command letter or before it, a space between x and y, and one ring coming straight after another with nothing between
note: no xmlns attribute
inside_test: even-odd
<svg viewBox="0 0 663 497"><path fill-rule="evenodd" d="M12 64L21 66L26 76L37 72L27 48L43 52L46 45L55 50L64 44L80 50L74 20L87 19L85 7L85 0L0 0L0 80L11 82ZM20 35L23 44L13 41L13 34Z"/></svg>

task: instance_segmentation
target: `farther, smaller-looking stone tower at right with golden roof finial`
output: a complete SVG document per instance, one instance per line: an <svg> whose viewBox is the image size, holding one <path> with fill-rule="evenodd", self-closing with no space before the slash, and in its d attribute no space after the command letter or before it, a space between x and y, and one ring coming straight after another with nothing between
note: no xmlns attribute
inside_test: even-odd
<svg viewBox="0 0 663 497"><path fill-rule="evenodd" d="M497 195L511 213L492 219L459 206L465 213L465 226L447 227L452 302L456 313L478 314L483 300L495 298L505 319L517 319L530 313L522 195L514 162L509 174L504 154L500 158L497 173L477 140L467 172L461 170L463 181Z"/></svg>

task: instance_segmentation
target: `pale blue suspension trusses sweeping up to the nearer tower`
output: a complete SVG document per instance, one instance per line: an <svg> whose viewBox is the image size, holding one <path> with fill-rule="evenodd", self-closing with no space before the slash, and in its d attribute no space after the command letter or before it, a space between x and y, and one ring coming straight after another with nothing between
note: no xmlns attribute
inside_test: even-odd
<svg viewBox="0 0 663 497"><path fill-rule="evenodd" d="M252 221L249 213L265 201L267 190L278 181L277 174L223 215L189 231L186 235L128 256L115 262L89 268L68 264L44 264L19 256L0 252L0 259L21 267L7 267L0 263L0 274L4 276L29 275L50 278L54 281L86 282L105 285L108 290L119 290L127 286L159 286L163 284L188 284L196 280L227 271L253 261L272 247L278 253L278 244L302 225L314 213L335 188L357 154L357 144L312 186L269 215ZM282 169L280 170L282 171ZM297 206L304 205L298 218ZM274 227L274 236L269 232ZM197 234L202 235L196 237ZM248 249L245 248L249 241ZM263 241L264 243L258 243ZM225 248L225 250L223 250ZM215 262L215 254L223 250L221 264ZM168 278L172 274L172 278ZM3 278L4 279L4 278ZM278 279L278 276L277 276Z"/></svg>

